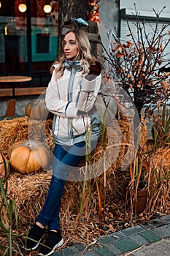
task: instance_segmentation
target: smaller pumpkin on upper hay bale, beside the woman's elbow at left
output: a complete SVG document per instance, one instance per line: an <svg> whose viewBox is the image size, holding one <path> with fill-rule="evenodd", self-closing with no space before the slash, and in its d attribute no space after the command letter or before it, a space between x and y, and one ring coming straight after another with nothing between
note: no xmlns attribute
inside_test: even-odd
<svg viewBox="0 0 170 256"><path fill-rule="evenodd" d="M49 118L45 100L34 100L29 102L25 108L26 116L36 120L45 120Z"/></svg>

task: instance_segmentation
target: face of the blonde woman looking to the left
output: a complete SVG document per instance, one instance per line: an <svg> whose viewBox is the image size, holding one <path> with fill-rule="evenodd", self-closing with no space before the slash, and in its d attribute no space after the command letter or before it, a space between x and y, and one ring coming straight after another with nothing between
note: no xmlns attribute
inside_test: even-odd
<svg viewBox="0 0 170 256"><path fill-rule="evenodd" d="M66 59L74 59L77 56L79 50L76 45L76 37L73 32L69 32L63 39L63 50L66 55Z"/></svg>

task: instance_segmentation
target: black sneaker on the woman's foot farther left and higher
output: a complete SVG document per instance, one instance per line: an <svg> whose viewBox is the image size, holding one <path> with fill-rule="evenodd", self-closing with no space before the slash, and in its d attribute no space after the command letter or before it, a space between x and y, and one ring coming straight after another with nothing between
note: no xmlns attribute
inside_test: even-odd
<svg viewBox="0 0 170 256"><path fill-rule="evenodd" d="M31 228L31 230L28 233L28 236L26 238L26 242L23 248L26 249L27 251L36 249L39 246L40 241L42 241L44 234L45 234L45 227L42 228L34 224L34 226Z"/></svg>

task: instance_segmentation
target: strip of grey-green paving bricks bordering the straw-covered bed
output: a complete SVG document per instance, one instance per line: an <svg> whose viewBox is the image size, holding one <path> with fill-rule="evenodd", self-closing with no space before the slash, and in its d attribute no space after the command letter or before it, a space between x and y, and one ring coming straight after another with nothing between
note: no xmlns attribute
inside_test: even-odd
<svg viewBox="0 0 170 256"><path fill-rule="evenodd" d="M98 238L98 245L75 244L53 253L53 256L116 256L170 238L170 215L152 219L145 224L128 227L119 232ZM170 249L169 249L170 251ZM130 254L129 254L130 255ZM170 252L169 252L170 255Z"/></svg>

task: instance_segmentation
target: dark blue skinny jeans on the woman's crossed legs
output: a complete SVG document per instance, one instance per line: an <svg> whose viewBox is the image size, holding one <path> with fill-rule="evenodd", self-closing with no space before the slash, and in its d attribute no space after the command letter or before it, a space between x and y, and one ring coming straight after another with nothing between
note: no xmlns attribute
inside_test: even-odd
<svg viewBox="0 0 170 256"><path fill-rule="evenodd" d="M95 146L96 142L92 144ZM48 230L60 230L59 211L66 176L69 175L72 167L84 159L85 154L85 142L66 147L55 145L53 176L50 181L45 204L36 218L36 221L42 223L42 225L48 225Z"/></svg>

